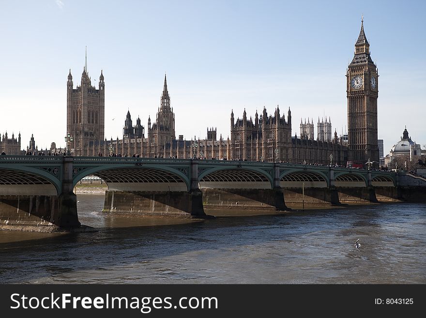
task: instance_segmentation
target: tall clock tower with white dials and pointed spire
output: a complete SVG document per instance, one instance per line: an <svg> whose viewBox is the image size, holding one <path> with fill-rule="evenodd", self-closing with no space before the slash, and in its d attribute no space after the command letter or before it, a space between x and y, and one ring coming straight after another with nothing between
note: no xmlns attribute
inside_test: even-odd
<svg viewBox="0 0 426 318"><path fill-rule="evenodd" d="M364 18L355 43L355 52L346 73L348 97L349 157L365 164L379 161L377 145L377 97L379 75L370 57L370 45L364 33ZM376 164L377 165L377 164Z"/></svg>

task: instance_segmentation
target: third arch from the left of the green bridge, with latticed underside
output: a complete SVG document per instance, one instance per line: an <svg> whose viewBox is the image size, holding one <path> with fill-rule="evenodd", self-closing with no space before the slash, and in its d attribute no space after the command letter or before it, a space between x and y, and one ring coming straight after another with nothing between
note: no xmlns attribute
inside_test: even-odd
<svg viewBox="0 0 426 318"><path fill-rule="evenodd" d="M201 189L272 189L273 179L258 167L212 167L198 175Z"/></svg>

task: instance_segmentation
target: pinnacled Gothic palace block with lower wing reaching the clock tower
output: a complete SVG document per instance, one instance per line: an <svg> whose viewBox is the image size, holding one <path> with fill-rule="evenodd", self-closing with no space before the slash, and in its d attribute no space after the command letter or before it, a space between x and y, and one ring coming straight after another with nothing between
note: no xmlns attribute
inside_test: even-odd
<svg viewBox="0 0 426 318"><path fill-rule="evenodd" d="M333 165L346 165L348 148L340 143L337 133L330 141L312 137L312 134L301 138L291 136L290 108L287 120L277 106L274 116L268 116L266 108L260 116L256 112L254 122L251 117L247 120L245 110L243 119L235 121L232 111L230 159L328 165L332 155Z"/></svg>

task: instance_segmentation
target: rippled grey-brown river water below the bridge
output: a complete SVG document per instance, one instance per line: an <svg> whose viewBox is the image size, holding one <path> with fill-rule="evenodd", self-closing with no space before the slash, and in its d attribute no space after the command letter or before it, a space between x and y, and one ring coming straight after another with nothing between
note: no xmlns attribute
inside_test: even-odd
<svg viewBox="0 0 426 318"><path fill-rule="evenodd" d="M426 283L424 203L194 221L108 216L103 198L77 195L96 232L0 231L0 282Z"/></svg>

